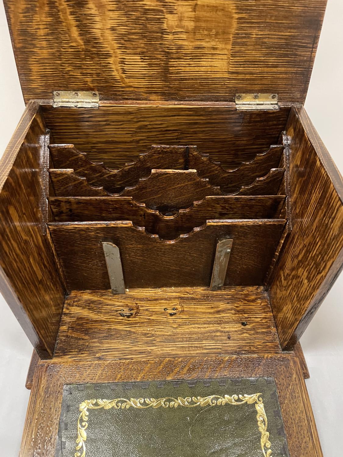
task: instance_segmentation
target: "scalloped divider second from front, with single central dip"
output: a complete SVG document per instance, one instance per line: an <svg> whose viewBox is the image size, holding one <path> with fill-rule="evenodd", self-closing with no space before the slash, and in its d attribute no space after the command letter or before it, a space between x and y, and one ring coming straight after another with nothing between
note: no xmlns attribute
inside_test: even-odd
<svg viewBox="0 0 343 457"><path fill-rule="evenodd" d="M131 197L50 197L56 222L132 221L163 239L175 239L207 219L279 218L284 196L205 197L174 216L163 216Z"/></svg>

